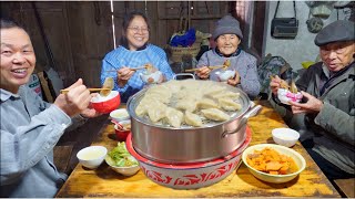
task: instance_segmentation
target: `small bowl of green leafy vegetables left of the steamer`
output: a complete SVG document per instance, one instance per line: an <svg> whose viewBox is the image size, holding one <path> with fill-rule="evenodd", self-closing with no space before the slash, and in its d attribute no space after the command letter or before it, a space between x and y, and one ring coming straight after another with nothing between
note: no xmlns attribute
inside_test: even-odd
<svg viewBox="0 0 355 199"><path fill-rule="evenodd" d="M140 170L139 161L125 148L125 143L110 150L104 158L110 168L123 176L133 176Z"/></svg>

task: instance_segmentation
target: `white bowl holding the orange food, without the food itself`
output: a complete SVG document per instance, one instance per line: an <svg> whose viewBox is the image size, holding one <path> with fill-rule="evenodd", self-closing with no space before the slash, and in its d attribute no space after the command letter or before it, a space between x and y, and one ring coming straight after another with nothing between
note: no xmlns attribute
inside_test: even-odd
<svg viewBox="0 0 355 199"><path fill-rule="evenodd" d="M297 165L298 170L296 172L287 174L287 175L271 175L271 174L262 172L262 171L256 170L253 167L251 167L246 163L247 155L254 154L254 150L262 150L265 147L273 148L277 153L291 157L295 161L295 164ZM296 178L306 167L305 159L297 151L295 151L291 148L284 147L284 146L275 145L275 144L260 144L260 145L254 145L254 146L247 147L242 155L242 159L243 159L243 163L246 165L247 169L250 170L250 172L252 172L256 178L258 178L263 181L272 182L272 184L287 182L287 181Z"/></svg>

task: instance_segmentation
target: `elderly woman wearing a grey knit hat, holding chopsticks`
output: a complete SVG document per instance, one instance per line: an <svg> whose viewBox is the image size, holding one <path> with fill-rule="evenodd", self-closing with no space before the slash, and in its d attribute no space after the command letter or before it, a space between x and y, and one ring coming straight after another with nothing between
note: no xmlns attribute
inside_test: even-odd
<svg viewBox="0 0 355 199"><path fill-rule="evenodd" d="M223 65L227 61L227 70L234 71L235 74L226 83L242 88L250 97L257 96L261 85L256 59L240 48L243 39L240 22L232 15L223 17L217 21L212 36L216 48L201 56L195 74L202 80L220 81L217 74L225 69L212 70L209 66Z"/></svg>

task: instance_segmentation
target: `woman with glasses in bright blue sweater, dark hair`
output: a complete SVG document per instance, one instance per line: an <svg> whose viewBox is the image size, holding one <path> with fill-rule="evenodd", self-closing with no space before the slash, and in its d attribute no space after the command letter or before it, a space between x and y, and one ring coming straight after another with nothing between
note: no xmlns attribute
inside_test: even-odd
<svg viewBox="0 0 355 199"><path fill-rule="evenodd" d="M122 102L143 88L145 83L140 78L141 67L151 64L162 72L160 82L171 80L172 72L165 52L149 43L150 28L148 18L141 12L131 12L123 19L121 45L105 55L102 61L101 83L109 76L116 78L114 90L120 92ZM112 71L116 70L116 73Z"/></svg>

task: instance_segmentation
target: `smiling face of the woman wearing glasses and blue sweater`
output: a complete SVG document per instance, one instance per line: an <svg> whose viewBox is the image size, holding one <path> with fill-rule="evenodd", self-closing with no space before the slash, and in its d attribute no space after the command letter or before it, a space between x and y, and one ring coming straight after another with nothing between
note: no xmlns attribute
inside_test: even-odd
<svg viewBox="0 0 355 199"><path fill-rule="evenodd" d="M136 15L126 29L126 40L131 51L142 48L149 40L148 24L141 15Z"/></svg>

